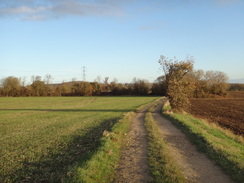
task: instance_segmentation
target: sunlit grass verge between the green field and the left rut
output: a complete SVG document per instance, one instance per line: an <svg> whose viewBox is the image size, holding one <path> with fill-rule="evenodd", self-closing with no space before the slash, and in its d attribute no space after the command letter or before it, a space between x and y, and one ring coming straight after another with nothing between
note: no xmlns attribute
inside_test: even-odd
<svg viewBox="0 0 244 183"><path fill-rule="evenodd" d="M140 106L135 111L143 109L147 105ZM92 158L85 164L77 164L70 171L70 178L64 182L107 183L116 179L116 168L120 161L123 142L135 117L135 112L126 113L111 129L104 131L100 148L94 152Z"/></svg>

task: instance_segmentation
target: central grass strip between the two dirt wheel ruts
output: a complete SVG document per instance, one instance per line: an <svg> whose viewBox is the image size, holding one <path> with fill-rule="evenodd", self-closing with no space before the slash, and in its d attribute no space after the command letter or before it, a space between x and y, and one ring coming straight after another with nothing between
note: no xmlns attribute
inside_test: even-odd
<svg viewBox="0 0 244 183"><path fill-rule="evenodd" d="M155 106L154 106L155 107ZM152 116L154 107L149 109L145 116L145 127L149 142L149 165L152 182L183 183L186 182L180 169L174 163L167 149L166 142L158 130L158 126Z"/></svg>

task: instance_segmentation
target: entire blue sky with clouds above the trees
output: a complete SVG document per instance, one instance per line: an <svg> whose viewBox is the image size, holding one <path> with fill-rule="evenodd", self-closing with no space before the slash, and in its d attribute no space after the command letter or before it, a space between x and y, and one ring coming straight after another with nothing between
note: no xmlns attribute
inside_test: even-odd
<svg viewBox="0 0 244 183"><path fill-rule="evenodd" d="M0 0L0 78L152 82L160 55L241 81L244 0Z"/></svg>

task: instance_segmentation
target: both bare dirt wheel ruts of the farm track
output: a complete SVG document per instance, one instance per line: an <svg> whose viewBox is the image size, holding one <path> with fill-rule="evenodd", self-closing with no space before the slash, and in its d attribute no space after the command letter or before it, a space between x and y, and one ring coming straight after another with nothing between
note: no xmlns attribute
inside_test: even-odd
<svg viewBox="0 0 244 183"><path fill-rule="evenodd" d="M160 114L159 105L154 112L154 118L162 133L162 138L169 145L171 155L176 164L190 183L232 183L229 176L210 161L207 156L196 150L185 134ZM127 144L123 151L118 178L114 182L140 183L150 182L147 159L147 139L144 128L144 115L147 109L138 113L132 122L132 128L127 134Z"/></svg>

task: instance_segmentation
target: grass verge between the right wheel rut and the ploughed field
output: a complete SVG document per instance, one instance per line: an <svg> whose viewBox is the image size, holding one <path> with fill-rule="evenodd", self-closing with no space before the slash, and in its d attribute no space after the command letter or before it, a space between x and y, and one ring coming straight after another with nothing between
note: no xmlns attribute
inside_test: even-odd
<svg viewBox="0 0 244 183"><path fill-rule="evenodd" d="M233 180L244 182L244 140L241 136L189 114L168 111L170 106L164 106L164 117L178 126L200 151L219 164Z"/></svg>

